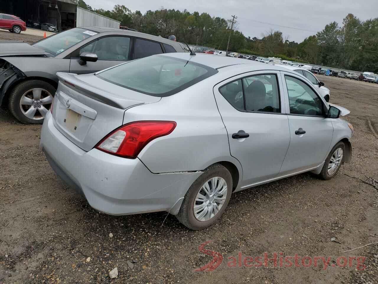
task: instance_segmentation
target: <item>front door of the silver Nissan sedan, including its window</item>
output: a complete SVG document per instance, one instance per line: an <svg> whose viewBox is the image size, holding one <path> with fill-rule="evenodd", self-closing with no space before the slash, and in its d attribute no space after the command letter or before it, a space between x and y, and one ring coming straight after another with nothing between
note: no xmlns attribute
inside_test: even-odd
<svg viewBox="0 0 378 284"><path fill-rule="evenodd" d="M282 72L290 147L280 175L307 170L321 165L332 142L332 119L325 118L324 102L313 86L293 73Z"/></svg>

